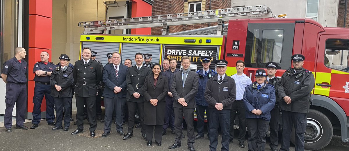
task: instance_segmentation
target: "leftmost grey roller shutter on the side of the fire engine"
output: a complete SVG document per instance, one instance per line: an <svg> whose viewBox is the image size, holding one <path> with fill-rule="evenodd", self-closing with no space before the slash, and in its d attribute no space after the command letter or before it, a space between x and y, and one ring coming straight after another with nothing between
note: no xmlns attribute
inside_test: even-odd
<svg viewBox="0 0 349 151"><path fill-rule="evenodd" d="M119 51L119 43L110 42L82 42L82 48L90 47L92 51L96 51L96 60L103 65L108 63L107 53ZM81 50L82 51L82 50Z"/></svg>

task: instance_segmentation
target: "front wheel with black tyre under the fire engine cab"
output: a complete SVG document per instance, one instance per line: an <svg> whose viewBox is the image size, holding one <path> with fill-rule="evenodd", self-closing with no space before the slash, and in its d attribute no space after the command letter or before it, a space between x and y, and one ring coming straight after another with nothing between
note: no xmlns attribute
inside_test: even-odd
<svg viewBox="0 0 349 151"><path fill-rule="evenodd" d="M304 149L320 150L332 140L333 127L325 114L310 109L304 133ZM292 129L291 142L295 144L295 130Z"/></svg>

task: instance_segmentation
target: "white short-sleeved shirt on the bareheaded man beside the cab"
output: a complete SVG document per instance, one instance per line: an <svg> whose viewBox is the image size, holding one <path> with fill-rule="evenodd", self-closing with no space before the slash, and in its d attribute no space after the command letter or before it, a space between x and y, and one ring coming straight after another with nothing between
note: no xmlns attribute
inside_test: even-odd
<svg viewBox="0 0 349 151"><path fill-rule="evenodd" d="M244 73L242 75L237 75L236 73L230 76L230 78L233 78L235 80L236 100L242 100L245 92L245 87L252 84L251 78L245 75Z"/></svg>

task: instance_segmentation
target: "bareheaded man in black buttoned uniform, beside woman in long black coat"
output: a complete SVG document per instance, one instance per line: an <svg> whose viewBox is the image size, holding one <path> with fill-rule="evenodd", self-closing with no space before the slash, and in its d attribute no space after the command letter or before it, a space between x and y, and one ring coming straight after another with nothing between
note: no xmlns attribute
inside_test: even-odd
<svg viewBox="0 0 349 151"><path fill-rule="evenodd" d="M141 132L142 137L146 139L146 130L145 125L143 124L144 120L144 100L143 100L143 84L146 80L146 77L151 74L151 69L147 66L144 66L143 63L143 54L136 53L135 55L136 65L129 67L128 72L126 73L126 83L127 83L127 107L128 107L128 131L124 136L124 140L128 140L133 136L133 127L136 109L138 109L139 119L141 123Z"/></svg>

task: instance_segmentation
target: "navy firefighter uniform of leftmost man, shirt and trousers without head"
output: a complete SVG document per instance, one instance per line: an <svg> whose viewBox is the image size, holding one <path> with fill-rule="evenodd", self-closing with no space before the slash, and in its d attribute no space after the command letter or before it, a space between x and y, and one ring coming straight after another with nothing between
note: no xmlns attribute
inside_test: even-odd
<svg viewBox="0 0 349 151"><path fill-rule="evenodd" d="M17 60L16 57L9 59L3 64L2 74L6 74L6 95L5 95L5 117L4 126L6 132L12 132L12 111L16 103L16 127L25 127L24 112L27 106L27 77L28 64L24 59Z"/></svg>

